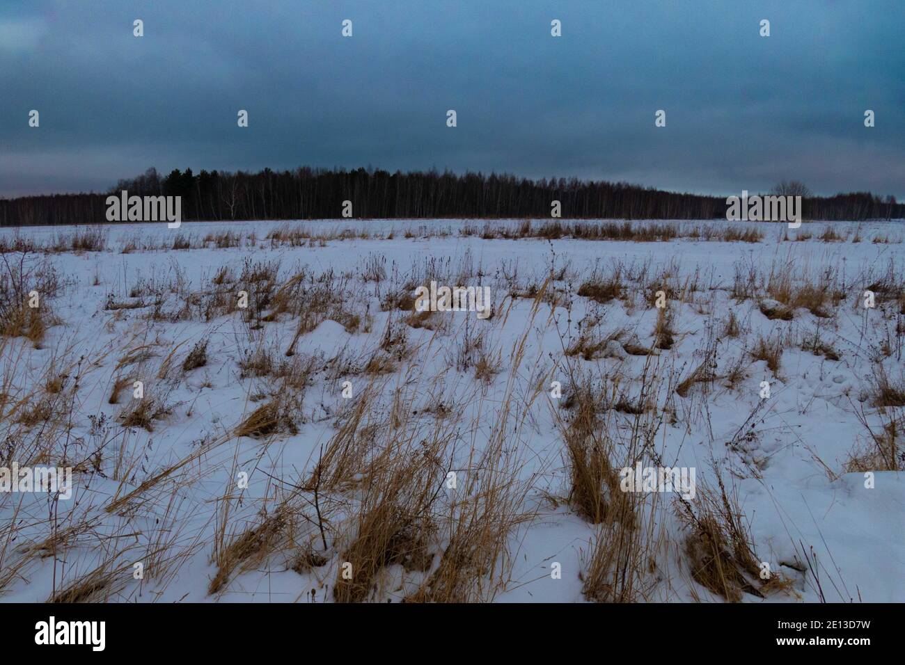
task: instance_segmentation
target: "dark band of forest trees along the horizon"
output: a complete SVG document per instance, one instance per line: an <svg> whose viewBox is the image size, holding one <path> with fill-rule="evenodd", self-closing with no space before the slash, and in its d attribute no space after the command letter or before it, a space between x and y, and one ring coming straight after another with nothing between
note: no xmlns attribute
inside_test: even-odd
<svg viewBox="0 0 905 665"><path fill-rule="evenodd" d="M781 183L776 194L789 193ZM805 219L901 219L905 204L870 192L814 196L804 192ZM355 218L549 218L558 201L564 218L725 219L726 198L664 192L653 187L577 178L531 180L510 175L449 171L402 173L372 168L257 173L174 169L161 177L149 168L120 180L103 194L61 194L0 199L0 225L87 224L106 222L108 195L182 197L182 219L291 220L335 219L344 202Z"/></svg>

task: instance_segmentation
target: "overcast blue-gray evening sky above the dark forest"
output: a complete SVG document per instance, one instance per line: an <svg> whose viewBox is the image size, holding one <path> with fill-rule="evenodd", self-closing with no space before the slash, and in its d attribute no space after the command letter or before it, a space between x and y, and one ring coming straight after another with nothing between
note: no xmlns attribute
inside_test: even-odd
<svg viewBox="0 0 905 665"><path fill-rule="evenodd" d="M132 22L144 21L143 37ZM353 36L341 35L343 19ZM759 35L761 19L770 36ZM562 22L562 37L550 21ZM28 113L40 111L40 128ZM247 109L249 127L236 112ZM458 127L446 127L455 109ZM654 113L666 110L666 127ZM876 126L865 128L872 109ZM3 0L0 195L436 167L905 199L902 0Z"/></svg>

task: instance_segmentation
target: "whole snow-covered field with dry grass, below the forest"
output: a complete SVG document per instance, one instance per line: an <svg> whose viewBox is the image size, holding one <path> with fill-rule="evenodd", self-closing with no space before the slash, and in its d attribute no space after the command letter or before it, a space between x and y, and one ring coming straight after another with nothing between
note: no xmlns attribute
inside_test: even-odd
<svg viewBox="0 0 905 665"><path fill-rule="evenodd" d="M0 601L905 601L903 225L548 223L0 230Z"/></svg>

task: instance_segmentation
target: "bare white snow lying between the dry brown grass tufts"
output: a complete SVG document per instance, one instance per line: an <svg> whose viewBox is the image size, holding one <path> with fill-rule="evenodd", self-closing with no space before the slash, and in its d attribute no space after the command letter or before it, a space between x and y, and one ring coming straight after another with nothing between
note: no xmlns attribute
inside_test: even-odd
<svg viewBox="0 0 905 665"><path fill-rule="evenodd" d="M517 227L519 221L496 224ZM688 228L726 223L676 224ZM480 233L462 236L460 231L467 226L479 229L483 226L483 222L468 220L182 223L177 231L167 229L166 223L129 223L107 227L107 249L103 252L29 254L27 261L34 265L48 261L65 282L59 295L50 299L52 312L61 323L48 330L41 348L34 348L21 338L8 344L2 366L13 375L12 383L17 390L27 394L40 388L43 369L54 358L67 356L78 361L83 357L81 386L71 415L71 437L83 440L90 447L97 434L91 433L89 415L104 414L109 435L117 442L115 445L128 441L133 450L143 451L143 456L139 468L123 481L122 488L118 480L113 480L115 446L104 456L102 474L90 471L76 474L75 499L60 502L56 519L65 523L71 512L77 521L93 520L92 527L55 557L32 556L22 575L0 590L0 600L43 601L52 594L54 575L59 587L63 578L71 581L90 571L110 553L114 543L122 550L118 560L123 572L119 575L118 591L110 600L306 602L311 599L312 589L316 602L331 600L331 586L341 563L335 553L328 565L308 573L288 570L281 556L270 556L252 570L233 575L224 591L208 594L208 584L216 573L211 556L217 510L224 493L234 486L235 471L249 472L249 486L243 492L241 505L235 504L229 517L238 533L243 524L255 523L262 499L269 496L274 479L291 485L300 482L305 470L313 468L321 445L335 433L337 414L345 408L340 394L343 379L329 380L325 374L318 375L314 385L305 392L302 406L305 417L297 433L283 432L267 445L250 437L230 437L205 450L205 446L231 431L243 420L243 415L258 405L251 399L256 393L275 387L270 377L240 376L238 363L244 351L252 349L247 326L237 314L213 321L152 322L145 318L147 308L110 311L104 306L109 294L117 302L134 300L129 299L129 291L139 280L165 284L178 277L186 280L189 289L197 290L224 266L232 266L238 274L243 261L279 261L281 280L288 279L302 266L308 266L315 275L333 269L340 274L348 272L357 290L369 290L370 300L357 303L355 309L373 318L370 332L359 330L350 334L337 321L324 320L301 337L298 352L306 356L322 354L329 359L346 348L350 356L362 356L377 347L391 315L381 311L375 289L386 293L394 272L405 275L417 271L424 267L425 260L433 258L449 261L448 272L452 276L463 262L472 261L475 269L480 266L484 275L474 283L491 286L498 312L502 311L504 301L506 307L511 305L507 316L498 313L487 323L492 347L499 350L501 361L500 372L487 386L481 385L472 374L459 371L454 361L464 328L476 325L474 313L443 314L451 323L436 337L431 330L408 329L411 345L421 343L427 347L424 353L415 356L416 366L411 368L420 377L416 380L417 403L429 407L438 394L450 396L453 404L457 399L461 411L454 417L466 429L467 423L478 423L477 430L469 437L479 445L486 442L493 429L496 410L506 394L512 349L519 340L525 339L525 352L514 375L513 393L523 399L529 394L532 381L546 375L545 372L552 371L554 378L558 376L565 383L565 377L557 375L552 358L561 358L563 347L570 339L577 338L582 319L598 317L597 328L602 332L626 328L630 335L638 337L640 344L650 345L657 318L657 310L644 304L640 294L635 306L626 309L619 300L598 305L574 293L571 312L564 307L551 312L546 304L541 304L538 314L532 317L531 299L505 298L509 286L506 275L517 272L517 281L522 286L532 280L539 283L552 263L557 267L567 266L567 280L576 288L595 265L607 267L612 261L623 261L626 266L641 266L649 261L652 276L670 266L680 280L697 274L702 285L701 299L696 303L700 308L691 304L675 305L676 343L660 356L660 360L681 376L700 363L700 349L708 339L711 313L714 321L721 322L732 310L742 328L742 337L738 339L715 331L718 374L723 373L732 359L743 355L760 334L776 337L781 332L784 339L800 339L819 329L839 354L838 361L816 356L786 341L777 375L767 369L765 362L752 361L735 388L716 382L707 394L695 387L688 397L677 398L681 409L676 413L677 422L663 425L657 445L662 459L674 466L694 467L701 476L711 472L713 458L719 461L726 478L733 480L758 556L769 562L771 569L782 570L795 579L797 595L771 594L767 602L820 600L813 577L808 581L805 573L783 565L795 561L800 565L803 552L813 552L816 556L821 569L820 583L828 601L905 601L902 528L905 482L896 471L878 471L874 475L874 487L868 489L863 473L843 472L847 455L857 443L865 441L866 430L856 417L856 407L866 409L872 426L879 427L881 423L882 414L871 408L869 402L862 401L870 387L872 368L879 363L896 379L905 368L900 353L895 352L895 321L882 319L879 308L864 310L857 305L871 277L881 277L890 266L897 275L902 274L905 256L901 236L905 229L900 223L805 223L801 231L814 233L813 238L781 242L784 233L781 225L734 224L763 229L766 236L756 243L691 238L672 242L595 242L567 238L483 240ZM820 242L816 236L826 225L843 233L854 233L855 228L860 228L862 241ZM271 246L266 240L268 233L287 226L328 236L352 229L366 232L369 237L329 239L325 246L318 242L295 247ZM242 246L121 252L126 243L137 239L139 245L142 242L171 244L176 233L197 241L207 233L224 230L243 236ZM36 242L52 242L72 231L48 227L3 229L0 237L18 235ZM406 231L414 237L406 238ZM392 239L387 239L391 232ZM247 240L249 233L254 234L255 241ZM794 237L795 232L788 233ZM892 242L874 243L875 236L890 236ZM386 273L390 276L379 285L361 281L367 261L375 255L386 257ZM771 321L758 311L757 300L738 303L730 298L729 289L738 265L753 265L766 274L771 266L785 265L786 261L794 266L795 278L805 274L819 277L827 270L839 271L848 292L834 318L818 318L806 309L797 309L792 321ZM100 277L98 285L93 284L95 275ZM567 280L557 281L555 286L565 290ZM698 309L706 313L701 314ZM268 345L284 349L294 336L296 323L290 318L267 323L258 341L263 339ZM877 349L889 338L890 330L893 352L883 356ZM207 366L187 373L172 387L167 396L167 404L174 405L172 413L156 422L153 432L123 428L117 423L123 404L129 402L131 386L124 390L126 396L120 404L109 404L108 397L115 366L125 349L156 340L160 347L155 348L157 357L153 362L157 363L181 343L176 352L181 363L185 353L200 339L209 342ZM630 356L620 344L610 341L594 359L582 360L579 356L576 362L602 376L611 375L616 367L625 375L637 376L645 358ZM743 437L734 446L728 446L727 442L736 438L749 414L756 411L761 402L760 382L765 380L770 382L772 394L753 420L756 435L750 440ZM350 381L356 390L367 383L362 376ZM389 382L387 394L397 383ZM629 392L636 394L631 386ZM495 600L500 602L584 601L579 575L596 527L576 516L565 499L568 479L563 442L555 424L553 410L557 408L547 399L536 400L524 425L509 441L518 448L516 454L524 462L520 468L523 478L537 480L526 501L538 512L528 523L512 529L510 582L496 595ZM193 451L198 456L180 476L182 480L175 486L167 485L167 491L156 495L143 509L126 515L104 510L114 496L135 489L142 480L185 459ZM838 477L831 478L817 458ZM754 477L752 466L757 468L760 478ZM736 475L732 475L732 470ZM559 499L556 505L546 499L548 495ZM168 508L171 497L172 505ZM48 501L41 495L0 496L0 524L23 520L14 543L17 552L26 543L39 542L51 533L48 510ZM157 529L164 525L156 520L164 515L167 515L163 520L167 533L160 534ZM662 547L659 568L663 581L655 585L651 599L681 602L697 595L720 600L691 581L688 564L681 553L682 527L678 520L673 516L663 527L670 535L670 542ZM136 533L141 535L132 535ZM0 533L0 548L3 537ZM131 575L132 564L148 561L147 553L157 542L156 537L172 543L173 551L182 553L181 565L172 578L136 580ZM338 536L342 537L348 537L348 533ZM341 549L339 545L336 547ZM6 556L5 565L9 565L17 555ZM561 565L561 579L550 575L553 562ZM392 567L392 575L407 579L407 588L417 585L417 575L404 573L398 565ZM395 589L395 584L388 588ZM394 601L401 595L401 592L390 594ZM760 602L751 595L746 595L745 600Z"/></svg>

